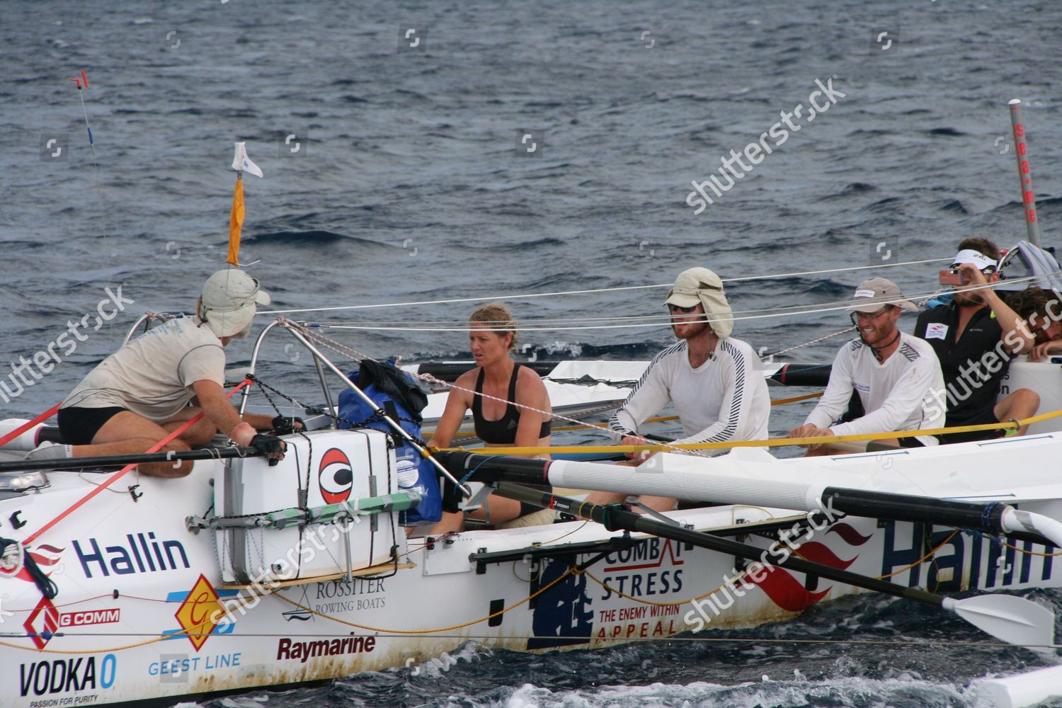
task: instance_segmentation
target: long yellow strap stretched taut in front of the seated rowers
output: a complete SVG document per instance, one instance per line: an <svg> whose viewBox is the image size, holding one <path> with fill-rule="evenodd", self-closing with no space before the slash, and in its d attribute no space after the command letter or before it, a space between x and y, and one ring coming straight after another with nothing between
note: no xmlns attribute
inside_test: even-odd
<svg viewBox="0 0 1062 708"><path fill-rule="evenodd" d="M1024 420L1008 420L1007 422L990 422L982 426L956 426L954 428L931 428L925 430L894 430L888 433L863 433L860 435L826 435L823 437L774 437L766 441L737 441L730 443L684 443L681 445L586 445L586 446L545 446L545 447L507 447L507 448L438 448L444 452L464 451L478 454L551 454L551 453L597 453L597 452L638 452L651 450L667 452L674 450L729 450L738 447L782 447L785 445L820 445L824 443L854 443L876 441L893 437L914 437L917 435L940 435L942 433L967 433L980 430L1017 429L1031 426L1034 422L1049 420L1062 416L1062 411L1042 413Z"/></svg>

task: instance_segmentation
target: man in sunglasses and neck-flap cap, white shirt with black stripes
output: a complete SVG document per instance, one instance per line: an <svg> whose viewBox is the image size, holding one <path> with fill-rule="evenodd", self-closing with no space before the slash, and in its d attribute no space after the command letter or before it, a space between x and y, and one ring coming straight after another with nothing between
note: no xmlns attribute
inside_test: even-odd
<svg viewBox="0 0 1062 708"><path fill-rule="evenodd" d="M683 271L664 301L679 342L653 357L623 404L609 421L620 445L651 444L638 428L668 402L674 403L685 437L675 443L726 443L767 438L771 399L759 357L732 338L734 315L723 283L706 267ZM638 462L648 453L629 453ZM609 503L620 495L594 493L587 501ZM643 497L657 512L674 499Z"/></svg>

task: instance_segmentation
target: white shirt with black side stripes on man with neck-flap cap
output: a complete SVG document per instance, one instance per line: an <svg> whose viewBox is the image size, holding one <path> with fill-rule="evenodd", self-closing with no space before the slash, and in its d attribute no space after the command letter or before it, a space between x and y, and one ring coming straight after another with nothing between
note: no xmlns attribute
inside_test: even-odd
<svg viewBox="0 0 1062 708"><path fill-rule="evenodd" d="M767 438L771 399L759 358L748 344L724 338L714 356L693 368L686 342L656 355L609 421L618 441L674 402L686 437L675 443L724 443Z"/></svg>

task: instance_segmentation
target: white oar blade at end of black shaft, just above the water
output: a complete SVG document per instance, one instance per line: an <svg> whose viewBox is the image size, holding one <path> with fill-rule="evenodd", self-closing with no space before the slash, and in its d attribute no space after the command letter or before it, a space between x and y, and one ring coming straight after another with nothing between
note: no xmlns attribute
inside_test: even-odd
<svg viewBox="0 0 1062 708"><path fill-rule="evenodd" d="M945 600L944 607L997 639L1050 653L1055 612L1031 600L1010 594L981 594Z"/></svg>

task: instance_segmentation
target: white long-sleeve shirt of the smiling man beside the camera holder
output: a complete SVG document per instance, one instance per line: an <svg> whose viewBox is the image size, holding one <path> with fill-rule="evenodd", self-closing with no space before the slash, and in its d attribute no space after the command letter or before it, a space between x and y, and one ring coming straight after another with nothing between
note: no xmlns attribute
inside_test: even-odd
<svg viewBox="0 0 1062 708"><path fill-rule="evenodd" d="M830 425L849 404L853 390L859 392L866 415ZM826 391L804 422L829 428L835 435L943 428L943 400L940 361L925 340L901 332L900 347L885 363L878 363L861 340L853 340L837 352ZM931 435L918 439L937 445Z"/></svg>

